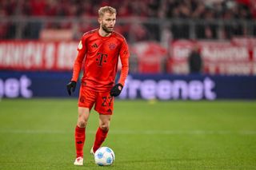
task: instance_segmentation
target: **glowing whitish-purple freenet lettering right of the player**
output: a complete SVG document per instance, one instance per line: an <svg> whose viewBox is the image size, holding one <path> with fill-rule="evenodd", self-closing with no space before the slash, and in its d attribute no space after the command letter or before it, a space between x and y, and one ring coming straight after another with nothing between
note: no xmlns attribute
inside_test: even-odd
<svg viewBox="0 0 256 170"><path fill-rule="evenodd" d="M155 81L152 79L142 81L129 76L119 97L121 99L135 99L140 95L142 99L146 100L155 98L160 100L214 100L217 97L214 87L215 82L209 77L206 77L203 81L192 80L187 82L184 80Z"/></svg>

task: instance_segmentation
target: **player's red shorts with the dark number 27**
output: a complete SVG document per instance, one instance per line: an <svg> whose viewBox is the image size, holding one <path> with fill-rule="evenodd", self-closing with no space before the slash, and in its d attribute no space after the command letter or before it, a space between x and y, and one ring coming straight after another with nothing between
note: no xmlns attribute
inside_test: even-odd
<svg viewBox="0 0 256 170"><path fill-rule="evenodd" d="M96 92L81 86L78 106L96 110L100 114L112 115L114 106L114 97L110 96L110 91Z"/></svg>

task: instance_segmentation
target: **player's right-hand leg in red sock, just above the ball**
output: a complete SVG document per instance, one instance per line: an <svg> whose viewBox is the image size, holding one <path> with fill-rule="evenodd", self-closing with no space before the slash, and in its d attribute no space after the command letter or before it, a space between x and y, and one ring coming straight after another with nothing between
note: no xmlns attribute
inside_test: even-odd
<svg viewBox="0 0 256 170"><path fill-rule="evenodd" d="M101 147L110 129L111 115L99 114L99 126L95 135L93 152Z"/></svg>

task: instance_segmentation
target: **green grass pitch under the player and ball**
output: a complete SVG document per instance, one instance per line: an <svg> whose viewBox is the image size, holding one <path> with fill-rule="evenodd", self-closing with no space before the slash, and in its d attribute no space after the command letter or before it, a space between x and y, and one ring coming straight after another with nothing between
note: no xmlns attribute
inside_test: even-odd
<svg viewBox="0 0 256 170"><path fill-rule="evenodd" d="M255 101L116 101L103 144L116 160L90 156L98 114L86 128L85 164L73 165L76 99L0 101L0 169L256 169Z"/></svg>

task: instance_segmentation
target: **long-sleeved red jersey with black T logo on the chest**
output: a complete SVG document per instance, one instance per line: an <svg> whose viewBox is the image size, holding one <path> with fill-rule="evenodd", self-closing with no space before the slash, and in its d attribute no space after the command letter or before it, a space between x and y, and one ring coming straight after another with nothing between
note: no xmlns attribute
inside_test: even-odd
<svg viewBox="0 0 256 170"><path fill-rule="evenodd" d="M126 39L121 34L113 31L109 37L102 37L98 30L91 30L83 34L78 45L72 81L78 81L85 59L83 85L95 91L110 90L114 85L120 57L122 69L118 83L124 85L129 69L129 56Z"/></svg>

